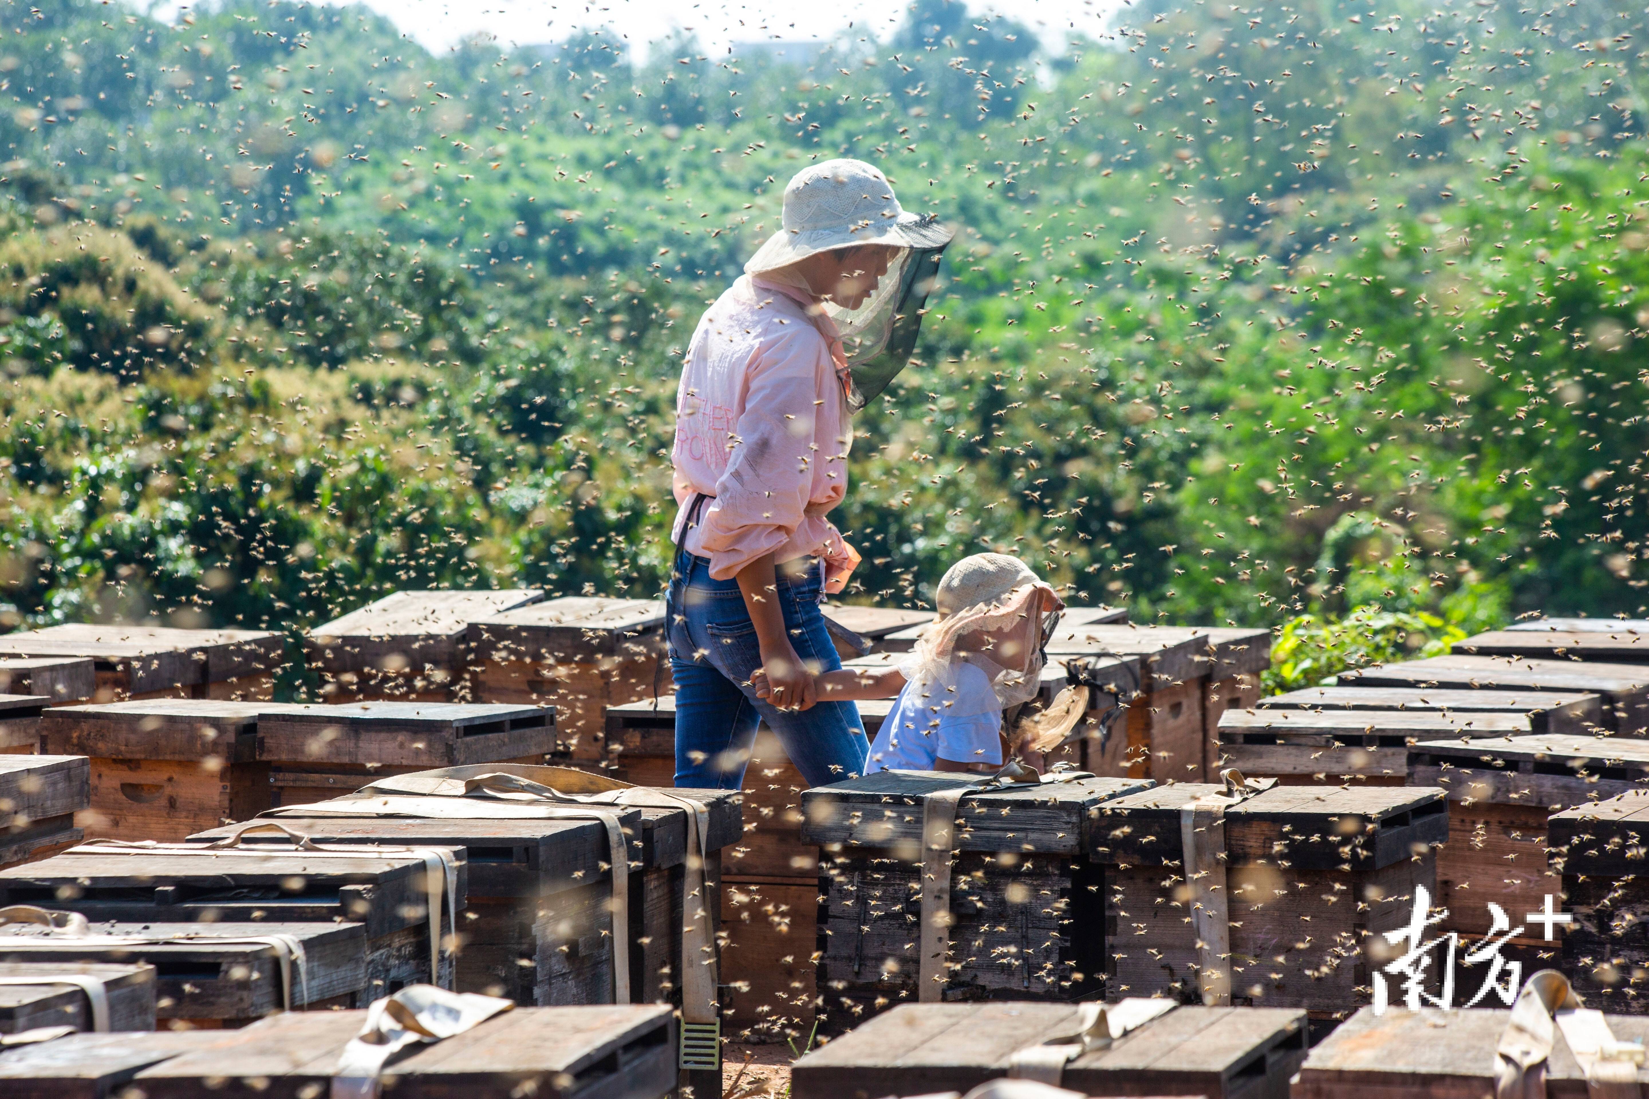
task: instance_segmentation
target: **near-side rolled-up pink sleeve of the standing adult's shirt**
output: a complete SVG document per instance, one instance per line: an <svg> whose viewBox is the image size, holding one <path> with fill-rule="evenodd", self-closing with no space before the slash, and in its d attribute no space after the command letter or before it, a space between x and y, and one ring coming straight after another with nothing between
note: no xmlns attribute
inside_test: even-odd
<svg viewBox="0 0 1649 1099"><path fill-rule="evenodd" d="M727 468L701 521L699 545L716 580L785 545L806 517L815 473L838 450L820 440L834 371L829 346L811 326L790 326L755 349Z"/></svg>

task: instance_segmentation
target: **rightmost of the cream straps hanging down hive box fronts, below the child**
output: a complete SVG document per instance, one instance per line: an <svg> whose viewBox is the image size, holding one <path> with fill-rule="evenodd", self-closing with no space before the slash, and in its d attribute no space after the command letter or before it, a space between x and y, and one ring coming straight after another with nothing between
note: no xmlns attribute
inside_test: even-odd
<svg viewBox="0 0 1649 1099"><path fill-rule="evenodd" d="M1276 779L1245 779L1220 771L1225 789L1179 807L1179 842L1186 886L1191 890L1191 929L1197 938L1197 990L1209 1007L1232 1002L1230 906L1225 891L1225 811L1270 789Z"/></svg>

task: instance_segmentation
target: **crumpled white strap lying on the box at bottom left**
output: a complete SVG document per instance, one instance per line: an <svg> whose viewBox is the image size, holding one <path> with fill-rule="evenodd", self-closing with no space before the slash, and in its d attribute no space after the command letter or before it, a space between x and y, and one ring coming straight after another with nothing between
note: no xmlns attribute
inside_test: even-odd
<svg viewBox="0 0 1649 1099"><path fill-rule="evenodd" d="M338 1055L331 1099L378 1099L384 1064L401 1050L475 1030L514 1003L495 995L407 985L366 1008L361 1033Z"/></svg>

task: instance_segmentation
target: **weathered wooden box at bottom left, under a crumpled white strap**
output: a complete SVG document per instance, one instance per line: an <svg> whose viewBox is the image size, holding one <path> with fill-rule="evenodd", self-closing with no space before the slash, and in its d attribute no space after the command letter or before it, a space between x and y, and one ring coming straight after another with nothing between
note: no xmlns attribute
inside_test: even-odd
<svg viewBox="0 0 1649 1099"><path fill-rule="evenodd" d="M366 1012L275 1015L132 1081L147 1099L323 1096ZM518 1007L407 1050L383 1071L396 1099L663 1099L676 1089L668 1007Z"/></svg>

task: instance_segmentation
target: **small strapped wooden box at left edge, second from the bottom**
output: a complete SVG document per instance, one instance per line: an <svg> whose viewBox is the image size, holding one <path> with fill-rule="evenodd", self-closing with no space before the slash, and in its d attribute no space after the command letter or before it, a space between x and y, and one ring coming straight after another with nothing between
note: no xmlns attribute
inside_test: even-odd
<svg viewBox="0 0 1649 1099"><path fill-rule="evenodd" d="M155 967L109 962L0 962L0 1035L18 1035L40 1027L94 1030L92 1002L79 984L63 977L92 980L109 1003L102 1030L155 1028ZM0 1091L0 1094L10 1094Z"/></svg>

